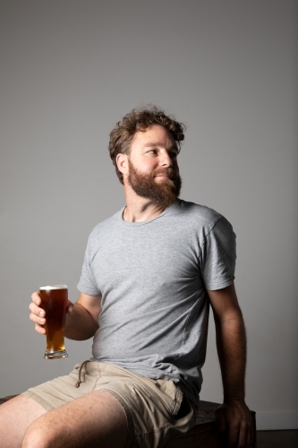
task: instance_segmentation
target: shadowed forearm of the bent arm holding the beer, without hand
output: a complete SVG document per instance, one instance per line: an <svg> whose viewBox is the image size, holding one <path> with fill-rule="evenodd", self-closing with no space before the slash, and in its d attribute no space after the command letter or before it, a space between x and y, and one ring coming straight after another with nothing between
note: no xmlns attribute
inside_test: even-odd
<svg viewBox="0 0 298 448"><path fill-rule="evenodd" d="M74 313L66 314L64 335L72 340L87 340L98 330L98 321L81 304L74 304Z"/></svg>

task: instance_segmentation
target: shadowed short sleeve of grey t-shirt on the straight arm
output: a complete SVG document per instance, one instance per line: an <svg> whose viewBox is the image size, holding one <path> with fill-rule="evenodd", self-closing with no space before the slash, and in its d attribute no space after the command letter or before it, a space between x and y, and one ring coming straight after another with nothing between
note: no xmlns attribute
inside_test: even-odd
<svg viewBox="0 0 298 448"><path fill-rule="evenodd" d="M231 224L221 217L205 237L201 252L201 275L205 288L222 289L234 281L236 237Z"/></svg>

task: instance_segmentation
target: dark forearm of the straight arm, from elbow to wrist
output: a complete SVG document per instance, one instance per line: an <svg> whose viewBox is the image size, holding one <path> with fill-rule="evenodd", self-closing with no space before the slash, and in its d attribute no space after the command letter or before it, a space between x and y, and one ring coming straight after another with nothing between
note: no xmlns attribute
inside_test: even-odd
<svg viewBox="0 0 298 448"><path fill-rule="evenodd" d="M217 353L221 368L224 401L244 400L246 367L246 334L240 308L225 316L215 318Z"/></svg>

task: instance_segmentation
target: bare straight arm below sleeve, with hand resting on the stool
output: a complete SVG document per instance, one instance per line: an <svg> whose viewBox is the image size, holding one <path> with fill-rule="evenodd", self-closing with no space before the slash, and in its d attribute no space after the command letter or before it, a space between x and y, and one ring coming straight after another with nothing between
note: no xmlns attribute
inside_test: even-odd
<svg viewBox="0 0 298 448"><path fill-rule="evenodd" d="M217 353L224 386L224 403L217 424L229 426L229 447L244 448L252 441L251 413L244 397L246 335L234 284L208 291L217 332Z"/></svg>

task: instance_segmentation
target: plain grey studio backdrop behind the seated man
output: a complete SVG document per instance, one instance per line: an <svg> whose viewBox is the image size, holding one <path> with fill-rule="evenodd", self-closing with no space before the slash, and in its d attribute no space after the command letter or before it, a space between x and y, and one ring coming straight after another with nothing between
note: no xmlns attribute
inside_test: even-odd
<svg viewBox="0 0 298 448"><path fill-rule="evenodd" d="M67 373L29 321L40 284L76 284L90 230L123 206L106 150L151 102L187 124L182 197L237 234L259 428L298 427L297 2L1 0L0 396ZM222 400L210 321L201 398Z"/></svg>

